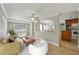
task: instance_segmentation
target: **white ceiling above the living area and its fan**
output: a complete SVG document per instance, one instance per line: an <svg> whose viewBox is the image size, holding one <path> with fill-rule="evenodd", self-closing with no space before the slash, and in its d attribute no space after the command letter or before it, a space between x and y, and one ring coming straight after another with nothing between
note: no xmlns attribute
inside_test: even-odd
<svg viewBox="0 0 79 59"><path fill-rule="evenodd" d="M28 19L32 13L41 18L58 13L76 11L79 8L77 3L4 3L8 17L17 19Z"/></svg>

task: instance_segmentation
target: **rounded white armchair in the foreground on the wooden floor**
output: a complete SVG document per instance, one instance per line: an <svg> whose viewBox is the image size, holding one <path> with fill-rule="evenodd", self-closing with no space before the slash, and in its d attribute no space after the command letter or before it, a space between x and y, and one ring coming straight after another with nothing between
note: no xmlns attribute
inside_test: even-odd
<svg viewBox="0 0 79 59"><path fill-rule="evenodd" d="M29 53L31 55L45 55L48 52L48 44L44 40L29 45Z"/></svg>

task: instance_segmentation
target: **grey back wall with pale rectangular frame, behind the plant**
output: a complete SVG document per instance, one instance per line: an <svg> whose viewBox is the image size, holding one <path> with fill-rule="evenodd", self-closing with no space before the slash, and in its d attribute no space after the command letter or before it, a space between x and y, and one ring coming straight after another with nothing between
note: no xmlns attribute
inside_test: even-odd
<svg viewBox="0 0 79 59"><path fill-rule="evenodd" d="M20 29L17 29L19 27ZM25 32L27 35L30 34L30 24L23 22L8 22L7 32L11 29L14 29L16 33Z"/></svg>

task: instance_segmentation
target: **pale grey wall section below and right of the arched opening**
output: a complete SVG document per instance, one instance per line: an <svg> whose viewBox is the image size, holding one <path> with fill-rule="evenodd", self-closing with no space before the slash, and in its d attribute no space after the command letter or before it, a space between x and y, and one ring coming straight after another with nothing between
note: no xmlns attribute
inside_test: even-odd
<svg viewBox="0 0 79 59"><path fill-rule="evenodd" d="M49 19L51 19L52 21L55 22L55 31L53 31L53 32L36 31L35 35L37 37L40 37L40 38L46 40L47 42L59 45L59 39L60 39L59 34L60 33L59 33L59 19L58 19L58 16L53 16Z"/></svg>

